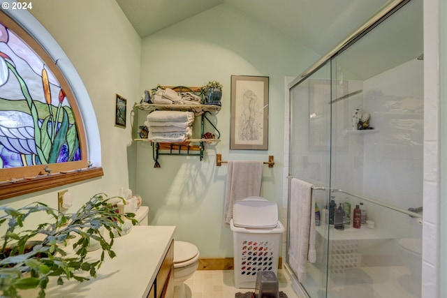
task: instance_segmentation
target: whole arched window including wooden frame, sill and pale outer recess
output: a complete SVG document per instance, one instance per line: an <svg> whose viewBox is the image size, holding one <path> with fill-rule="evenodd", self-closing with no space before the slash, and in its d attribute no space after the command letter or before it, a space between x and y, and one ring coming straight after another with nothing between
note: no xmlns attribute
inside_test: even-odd
<svg viewBox="0 0 447 298"><path fill-rule="evenodd" d="M0 11L0 200L103 175L100 147L87 144L99 141L96 117L82 115L82 105L91 107L87 91L59 45L24 13ZM38 36L27 22L38 24Z"/></svg>

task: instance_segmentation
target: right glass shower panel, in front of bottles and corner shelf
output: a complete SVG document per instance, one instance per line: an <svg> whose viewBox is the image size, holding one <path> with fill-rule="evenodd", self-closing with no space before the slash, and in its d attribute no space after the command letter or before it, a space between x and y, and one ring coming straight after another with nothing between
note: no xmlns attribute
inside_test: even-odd
<svg viewBox="0 0 447 298"><path fill-rule="evenodd" d="M331 196L350 219L329 230L331 298L420 297L422 226L407 212L423 205L422 3L330 61Z"/></svg>

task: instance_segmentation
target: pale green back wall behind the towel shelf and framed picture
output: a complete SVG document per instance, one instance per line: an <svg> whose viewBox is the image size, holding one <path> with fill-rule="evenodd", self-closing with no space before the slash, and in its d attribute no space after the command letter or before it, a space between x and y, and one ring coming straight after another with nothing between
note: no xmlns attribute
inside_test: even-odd
<svg viewBox="0 0 447 298"><path fill-rule="evenodd" d="M175 238L198 246L201 258L233 255L233 234L223 226L227 166L224 161L268 161L262 195L282 207L284 183L284 89L286 75L299 75L318 55L225 4L142 40L140 89L223 84L222 109L215 116L221 142L207 146L205 158L161 156L154 168L149 144L137 145L137 193L151 211L153 225L177 225ZM270 77L268 151L230 150L230 77ZM142 125L146 114L137 112ZM210 128L211 129L211 128Z"/></svg>

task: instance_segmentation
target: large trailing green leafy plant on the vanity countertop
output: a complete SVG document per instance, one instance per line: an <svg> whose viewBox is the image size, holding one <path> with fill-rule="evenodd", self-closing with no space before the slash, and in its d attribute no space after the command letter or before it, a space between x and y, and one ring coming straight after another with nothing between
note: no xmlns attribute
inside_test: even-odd
<svg viewBox="0 0 447 298"><path fill-rule="evenodd" d="M0 207L0 228L6 230L0 244L0 290L1 297L21 297L22 290L37 289L38 297L45 297L45 288L51 276L57 278L57 284L64 279L87 281L82 271L96 277L105 253L115 258L112 251L114 234L122 231L123 218L133 218L135 214L118 214L116 205L104 193L94 195L78 211L63 214L41 202L29 204L20 209L8 206ZM119 198L122 199L122 198ZM124 199L122 199L124 200ZM50 217L45 223L34 228L24 225L24 221L36 213ZM101 233L107 230L108 236ZM37 239L37 240L34 240ZM73 241L73 253L68 245ZM87 259L91 241L101 244L101 258Z"/></svg>

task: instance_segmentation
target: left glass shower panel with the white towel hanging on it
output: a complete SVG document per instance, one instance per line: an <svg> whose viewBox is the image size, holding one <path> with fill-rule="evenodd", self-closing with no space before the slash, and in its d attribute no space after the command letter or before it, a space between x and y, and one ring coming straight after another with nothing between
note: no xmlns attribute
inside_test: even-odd
<svg viewBox="0 0 447 298"><path fill-rule="evenodd" d="M307 264L306 276L300 280L310 297L326 297L329 218L324 210L330 197L331 91L328 64L291 88L290 93L289 177L316 186L313 194L321 210L320 225L316 226L316 262ZM288 212L291 218L293 211ZM294 245L287 242L289 247ZM296 271L293 274L298 279Z"/></svg>

